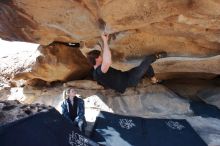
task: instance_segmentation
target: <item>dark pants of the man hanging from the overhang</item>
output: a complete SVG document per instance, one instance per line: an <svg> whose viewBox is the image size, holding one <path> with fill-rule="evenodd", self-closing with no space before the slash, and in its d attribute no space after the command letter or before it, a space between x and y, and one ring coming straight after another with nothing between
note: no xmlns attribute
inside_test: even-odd
<svg viewBox="0 0 220 146"><path fill-rule="evenodd" d="M151 66L151 63L154 61L156 61L155 55L146 56L139 66L128 70L128 87L137 86L145 73L148 77L153 77L154 70Z"/></svg>

